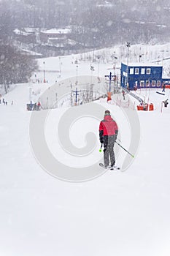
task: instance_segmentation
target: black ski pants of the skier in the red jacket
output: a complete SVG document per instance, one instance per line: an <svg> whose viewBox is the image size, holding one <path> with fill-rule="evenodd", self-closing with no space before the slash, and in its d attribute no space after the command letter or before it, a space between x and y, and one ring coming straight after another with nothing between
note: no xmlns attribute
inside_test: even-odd
<svg viewBox="0 0 170 256"><path fill-rule="evenodd" d="M104 165L115 165L115 153L114 153L114 144L115 144L115 135L104 136Z"/></svg>

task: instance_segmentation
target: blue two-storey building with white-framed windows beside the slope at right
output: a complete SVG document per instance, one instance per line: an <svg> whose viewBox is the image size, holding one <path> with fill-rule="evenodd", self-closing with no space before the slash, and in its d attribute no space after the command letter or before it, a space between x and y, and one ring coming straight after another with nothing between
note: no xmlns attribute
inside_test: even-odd
<svg viewBox="0 0 170 256"><path fill-rule="evenodd" d="M130 90L162 87L169 78L162 78L163 67L159 64L121 64L121 86Z"/></svg>

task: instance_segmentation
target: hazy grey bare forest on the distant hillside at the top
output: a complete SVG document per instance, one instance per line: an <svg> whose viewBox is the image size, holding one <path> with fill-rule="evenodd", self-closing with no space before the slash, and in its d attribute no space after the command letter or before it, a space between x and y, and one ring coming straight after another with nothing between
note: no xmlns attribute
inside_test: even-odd
<svg viewBox="0 0 170 256"><path fill-rule="evenodd" d="M170 3L162 0L1 0L0 39L14 29L73 26L73 37L94 47L169 41ZM78 34L76 27L85 34ZM74 39L74 38L73 38Z"/></svg>

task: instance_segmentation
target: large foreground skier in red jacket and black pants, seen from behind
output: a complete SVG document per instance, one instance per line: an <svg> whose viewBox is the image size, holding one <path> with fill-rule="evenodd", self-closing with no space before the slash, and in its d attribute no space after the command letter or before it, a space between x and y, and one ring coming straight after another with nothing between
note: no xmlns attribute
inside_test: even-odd
<svg viewBox="0 0 170 256"><path fill-rule="evenodd" d="M100 122L99 138L101 144L104 144L104 167L113 169L115 165L114 144L117 139L118 127L110 115L110 111L104 113L104 120ZM110 158L110 166L109 166Z"/></svg>

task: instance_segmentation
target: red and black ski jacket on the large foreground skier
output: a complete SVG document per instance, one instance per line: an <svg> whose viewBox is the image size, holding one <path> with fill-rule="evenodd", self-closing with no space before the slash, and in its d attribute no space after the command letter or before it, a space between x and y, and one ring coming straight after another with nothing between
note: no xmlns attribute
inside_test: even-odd
<svg viewBox="0 0 170 256"><path fill-rule="evenodd" d="M117 135L118 127L116 121L114 121L109 115L104 116L104 120L100 122L99 132L102 132L103 136Z"/></svg>

